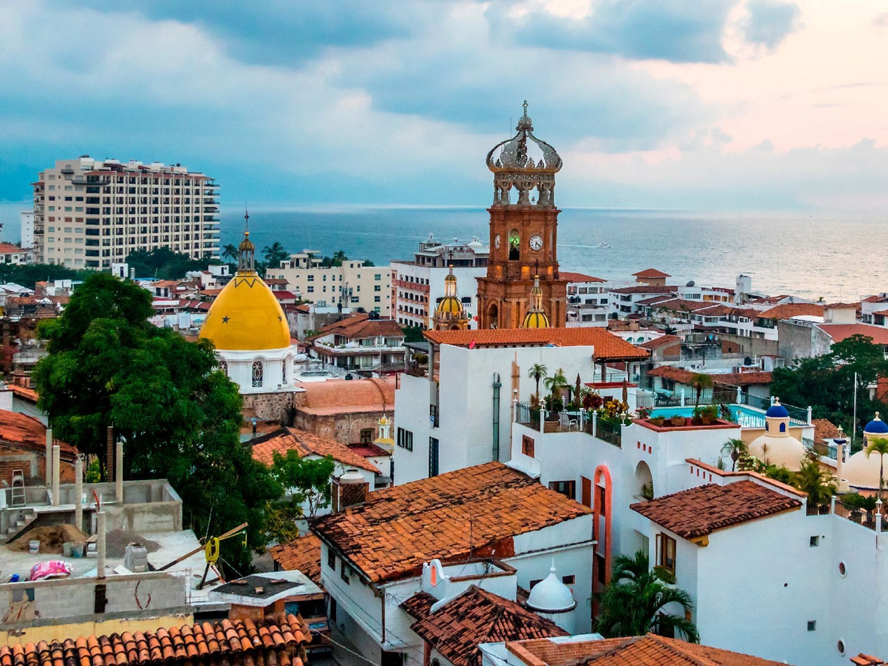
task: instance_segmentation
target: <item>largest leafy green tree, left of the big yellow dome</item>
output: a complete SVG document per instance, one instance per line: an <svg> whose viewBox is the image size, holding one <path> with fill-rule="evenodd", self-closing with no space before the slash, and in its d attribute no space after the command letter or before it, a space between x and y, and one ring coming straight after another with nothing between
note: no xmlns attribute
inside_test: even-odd
<svg viewBox="0 0 888 666"><path fill-rule="evenodd" d="M282 488L241 444L237 386L218 371L208 340L158 329L147 321L153 312L146 289L93 274L38 329L48 351L32 376L38 404L60 439L99 464L113 425L127 478L169 480L199 535L248 521L248 543L262 549L268 504ZM224 542L223 557L250 567L237 539Z"/></svg>

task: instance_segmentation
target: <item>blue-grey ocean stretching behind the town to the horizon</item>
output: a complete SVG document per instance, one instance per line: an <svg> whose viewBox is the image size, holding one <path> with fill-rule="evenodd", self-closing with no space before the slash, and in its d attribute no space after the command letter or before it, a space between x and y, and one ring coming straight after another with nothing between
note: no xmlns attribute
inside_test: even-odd
<svg viewBox="0 0 888 666"><path fill-rule="evenodd" d="M0 204L3 239L17 241L27 203ZM242 238L243 212L221 213L222 244ZM629 281L658 268L671 282L733 287L738 274L752 288L828 301L857 300L888 291L882 250L873 248L886 220L797 217L786 214L707 213L692 210L565 209L559 216L563 270ZM440 241L488 242L483 208L276 206L250 210L250 237L261 250L277 241L289 252L305 248L370 259L377 266L411 259L428 234ZM608 243L610 248L600 248Z"/></svg>

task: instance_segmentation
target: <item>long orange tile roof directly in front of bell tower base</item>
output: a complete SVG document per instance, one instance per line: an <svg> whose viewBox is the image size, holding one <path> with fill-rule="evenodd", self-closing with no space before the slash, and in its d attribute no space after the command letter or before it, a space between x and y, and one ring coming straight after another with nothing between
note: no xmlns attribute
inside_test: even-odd
<svg viewBox="0 0 888 666"><path fill-rule="evenodd" d="M888 330L888 329L886 329ZM571 329L477 329L477 330L426 330L426 339L436 345L459 347L485 346L547 346L570 347L594 345L597 359L646 359L644 349L614 336L608 330L592 326Z"/></svg>

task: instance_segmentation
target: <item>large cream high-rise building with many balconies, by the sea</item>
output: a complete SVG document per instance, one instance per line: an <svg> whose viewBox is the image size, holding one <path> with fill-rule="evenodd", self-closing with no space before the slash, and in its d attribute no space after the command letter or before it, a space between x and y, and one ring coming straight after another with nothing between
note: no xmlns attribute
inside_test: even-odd
<svg viewBox="0 0 888 666"><path fill-rule="evenodd" d="M34 259L110 269L134 250L219 249L218 185L181 165L59 160L34 185Z"/></svg>

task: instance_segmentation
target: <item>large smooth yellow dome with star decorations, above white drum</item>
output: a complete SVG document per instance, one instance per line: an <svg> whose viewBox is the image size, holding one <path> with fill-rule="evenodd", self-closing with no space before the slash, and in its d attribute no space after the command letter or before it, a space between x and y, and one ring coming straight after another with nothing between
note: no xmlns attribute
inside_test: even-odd
<svg viewBox="0 0 888 666"><path fill-rule="evenodd" d="M217 349L283 349L289 347L289 326L281 304L262 278L238 271L210 306L201 337Z"/></svg>

